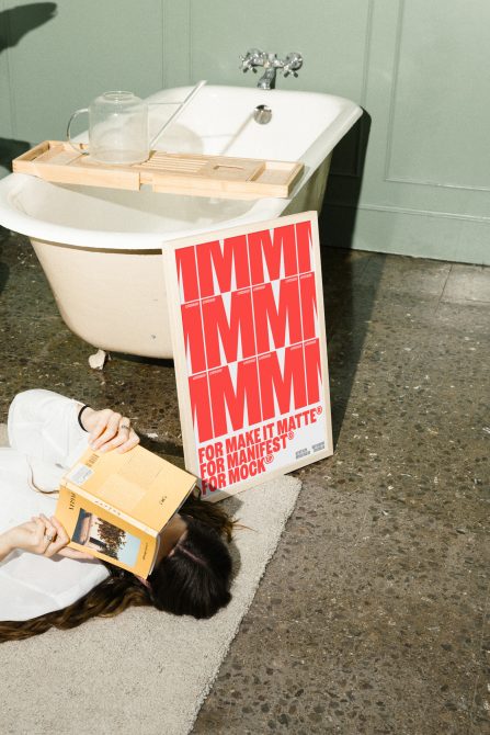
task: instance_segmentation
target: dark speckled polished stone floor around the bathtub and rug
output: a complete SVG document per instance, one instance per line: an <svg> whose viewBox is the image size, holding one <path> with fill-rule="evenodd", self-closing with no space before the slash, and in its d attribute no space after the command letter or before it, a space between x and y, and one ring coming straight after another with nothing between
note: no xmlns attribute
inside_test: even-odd
<svg viewBox="0 0 490 735"><path fill-rule="evenodd" d="M172 363L91 371L26 240L0 238L0 421L48 387L121 406L181 455ZM300 472L193 733L482 735L490 271L327 249L323 280L335 453Z"/></svg>

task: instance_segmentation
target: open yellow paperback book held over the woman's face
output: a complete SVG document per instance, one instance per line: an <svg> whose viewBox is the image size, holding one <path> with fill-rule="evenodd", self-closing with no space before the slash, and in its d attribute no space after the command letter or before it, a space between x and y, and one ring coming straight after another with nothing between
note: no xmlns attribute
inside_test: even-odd
<svg viewBox="0 0 490 735"><path fill-rule="evenodd" d="M68 546L146 579L159 532L195 483L143 446L125 453L89 449L61 479L55 514L70 536Z"/></svg>

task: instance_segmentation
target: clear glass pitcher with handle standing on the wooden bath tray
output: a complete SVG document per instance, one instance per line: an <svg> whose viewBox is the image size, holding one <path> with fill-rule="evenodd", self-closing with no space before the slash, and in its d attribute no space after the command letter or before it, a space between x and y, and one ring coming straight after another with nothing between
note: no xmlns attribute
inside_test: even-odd
<svg viewBox="0 0 490 735"><path fill-rule="evenodd" d="M89 149L80 151L70 131L73 120L83 112L89 114ZM148 105L133 92L104 92L89 108L73 112L67 139L78 152L89 154L100 163L141 163L149 157Z"/></svg>

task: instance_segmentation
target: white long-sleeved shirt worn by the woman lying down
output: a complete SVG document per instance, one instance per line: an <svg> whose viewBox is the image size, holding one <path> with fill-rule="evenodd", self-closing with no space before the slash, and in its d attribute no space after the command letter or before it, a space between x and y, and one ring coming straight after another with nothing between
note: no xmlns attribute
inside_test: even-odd
<svg viewBox="0 0 490 735"><path fill-rule="evenodd" d="M41 512L54 516L59 479L88 446L77 402L25 391L9 409L9 448L0 448L0 533ZM52 558L22 550L0 561L0 621L31 620L76 602L110 576L96 558Z"/></svg>

